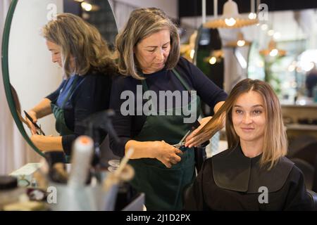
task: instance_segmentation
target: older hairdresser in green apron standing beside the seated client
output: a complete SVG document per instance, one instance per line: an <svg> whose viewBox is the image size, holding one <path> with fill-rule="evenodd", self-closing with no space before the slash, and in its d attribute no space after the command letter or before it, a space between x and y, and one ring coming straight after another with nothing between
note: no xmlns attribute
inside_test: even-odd
<svg viewBox="0 0 317 225"><path fill-rule="evenodd" d="M122 157L134 148L132 186L145 193L147 210L182 210L182 193L196 176L192 147L214 131L185 147L173 145L199 117L199 98L217 111L227 94L180 57L178 30L157 8L133 11L116 45L122 76L113 81L111 108L121 143L111 139L111 149ZM220 122L214 129L221 127Z"/></svg>

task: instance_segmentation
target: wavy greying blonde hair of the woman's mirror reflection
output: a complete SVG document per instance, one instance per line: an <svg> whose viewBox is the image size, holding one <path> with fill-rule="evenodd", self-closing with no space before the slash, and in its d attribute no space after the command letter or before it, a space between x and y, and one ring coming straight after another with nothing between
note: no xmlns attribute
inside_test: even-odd
<svg viewBox="0 0 317 225"><path fill-rule="evenodd" d="M116 72L106 41L96 27L71 13L61 13L42 27L42 36L61 46L63 72L85 75L89 71L109 74ZM75 68L70 66L74 58Z"/></svg>

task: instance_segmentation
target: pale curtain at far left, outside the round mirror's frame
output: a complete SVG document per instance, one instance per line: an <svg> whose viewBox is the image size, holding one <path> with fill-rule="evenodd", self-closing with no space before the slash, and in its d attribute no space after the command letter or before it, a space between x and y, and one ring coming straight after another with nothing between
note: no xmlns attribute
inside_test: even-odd
<svg viewBox="0 0 317 225"><path fill-rule="evenodd" d="M4 31L6 13L10 4L11 0L0 1L0 37ZM0 67L2 68L1 60ZM2 70L0 70L0 174L9 174L27 162L39 162L39 159L40 156L28 146L15 125L6 101Z"/></svg>

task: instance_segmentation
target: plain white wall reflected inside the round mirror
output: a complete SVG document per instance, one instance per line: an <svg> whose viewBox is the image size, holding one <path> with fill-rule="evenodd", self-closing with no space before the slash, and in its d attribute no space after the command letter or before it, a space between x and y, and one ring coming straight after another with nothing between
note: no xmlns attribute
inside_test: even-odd
<svg viewBox="0 0 317 225"><path fill-rule="evenodd" d="M18 1L11 24L9 76L18 93L21 109L26 111L54 91L62 79L61 68L51 62L50 52L40 35L41 27L48 22L49 4L56 5L57 13L63 11L62 0ZM56 135L53 115L39 123L46 134ZM28 131L27 127L25 129Z"/></svg>

